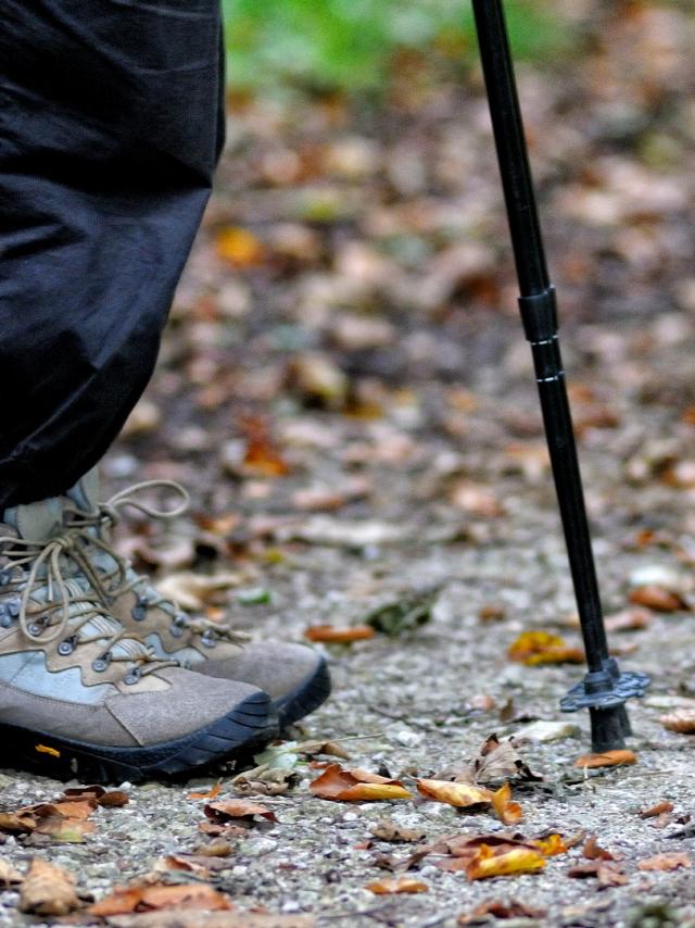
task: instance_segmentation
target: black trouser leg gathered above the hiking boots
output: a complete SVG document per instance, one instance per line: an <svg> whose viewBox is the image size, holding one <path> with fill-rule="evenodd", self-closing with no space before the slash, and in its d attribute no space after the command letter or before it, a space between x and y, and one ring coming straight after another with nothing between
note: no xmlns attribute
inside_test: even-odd
<svg viewBox="0 0 695 928"><path fill-rule="evenodd" d="M0 511L144 389L223 142L219 0L0 0Z"/></svg>

